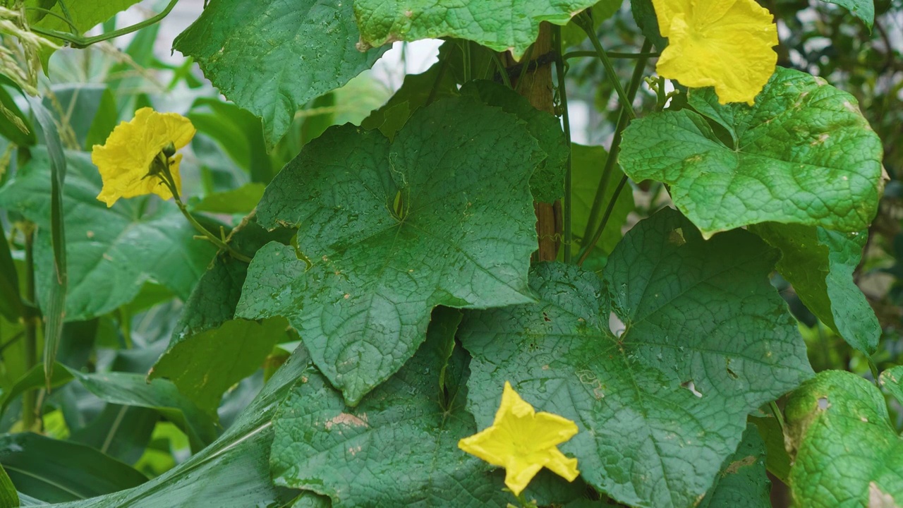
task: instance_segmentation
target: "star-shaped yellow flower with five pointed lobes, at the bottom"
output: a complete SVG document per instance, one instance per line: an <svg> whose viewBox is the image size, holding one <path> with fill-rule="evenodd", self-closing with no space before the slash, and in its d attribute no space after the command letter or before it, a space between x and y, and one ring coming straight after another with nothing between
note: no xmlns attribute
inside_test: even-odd
<svg viewBox="0 0 903 508"><path fill-rule="evenodd" d="M552 413L537 413L505 381L502 404L492 426L458 442L465 452L479 456L493 466L506 469L505 484L515 495L544 466L573 482L580 471L577 459L557 448L577 433L577 425Z"/></svg>

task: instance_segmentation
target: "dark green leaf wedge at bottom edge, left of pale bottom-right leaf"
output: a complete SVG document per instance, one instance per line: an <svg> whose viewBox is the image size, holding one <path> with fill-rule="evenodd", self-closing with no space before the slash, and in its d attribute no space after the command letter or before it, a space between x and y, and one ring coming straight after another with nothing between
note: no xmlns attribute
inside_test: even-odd
<svg viewBox="0 0 903 508"><path fill-rule="evenodd" d="M724 460L699 508L771 508L771 482L765 474L765 443L749 424L740 445Z"/></svg>

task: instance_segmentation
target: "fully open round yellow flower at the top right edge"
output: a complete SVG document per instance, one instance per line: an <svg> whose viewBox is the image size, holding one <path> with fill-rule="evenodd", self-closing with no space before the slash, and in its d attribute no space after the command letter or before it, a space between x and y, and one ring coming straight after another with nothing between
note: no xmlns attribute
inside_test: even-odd
<svg viewBox="0 0 903 508"><path fill-rule="evenodd" d="M658 74L685 87L715 87L718 101L752 106L775 71L777 26L755 0L652 0L668 46Z"/></svg>

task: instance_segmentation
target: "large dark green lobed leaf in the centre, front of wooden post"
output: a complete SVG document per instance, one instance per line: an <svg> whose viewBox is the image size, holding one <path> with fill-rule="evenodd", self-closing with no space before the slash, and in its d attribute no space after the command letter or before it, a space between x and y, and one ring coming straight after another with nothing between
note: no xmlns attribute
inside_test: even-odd
<svg viewBox="0 0 903 508"><path fill-rule="evenodd" d="M517 117L472 99L419 109L391 144L330 128L266 188L261 225L297 226L298 250L257 252L236 316L287 317L357 404L414 354L434 306L532 301L527 182L543 155Z"/></svg>

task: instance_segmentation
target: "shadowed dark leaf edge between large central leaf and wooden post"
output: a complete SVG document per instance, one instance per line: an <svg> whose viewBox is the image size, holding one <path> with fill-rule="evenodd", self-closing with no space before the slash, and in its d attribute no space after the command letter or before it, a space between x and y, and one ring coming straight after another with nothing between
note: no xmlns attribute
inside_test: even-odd
<svg viewBox="0 0 903 508"><path fill-rule="evenodd" d="M536 138L546 155L530 177L533 199L538 202L561 199L564 196L564 171L569 154L561 120L534 108L525 97L494 81L470 81L461 87L461 95L502 108L502 111L517 115L517 118L526 122L526 130Z"/></svg>

